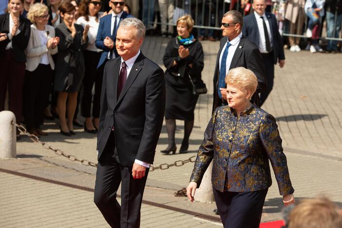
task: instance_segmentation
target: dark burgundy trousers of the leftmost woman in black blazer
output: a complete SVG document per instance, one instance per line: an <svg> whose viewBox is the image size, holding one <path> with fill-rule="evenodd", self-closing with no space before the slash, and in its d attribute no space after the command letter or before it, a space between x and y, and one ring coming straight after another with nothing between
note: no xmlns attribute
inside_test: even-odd
<svg viewBox="0 0 342 228"><path fill-rule="evenodd" d="M22 89L24 86L25 63L17 62L12 50L6 50L0 58L0 112L5 110L8 88L8 110L16 115L19 124L22 118Z"/></svg>

